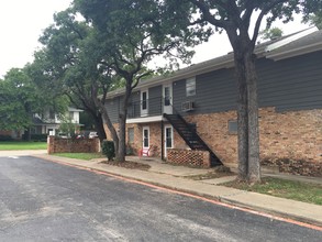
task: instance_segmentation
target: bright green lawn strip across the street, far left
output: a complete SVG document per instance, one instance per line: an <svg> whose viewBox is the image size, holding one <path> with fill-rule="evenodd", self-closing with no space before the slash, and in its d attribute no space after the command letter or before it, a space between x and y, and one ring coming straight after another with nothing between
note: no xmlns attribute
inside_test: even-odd
<svg viewBox="0 0 322 242"><path fill-rule="evenodd" d="M47 142L1 141L0 151L46 150Z"/></svg>

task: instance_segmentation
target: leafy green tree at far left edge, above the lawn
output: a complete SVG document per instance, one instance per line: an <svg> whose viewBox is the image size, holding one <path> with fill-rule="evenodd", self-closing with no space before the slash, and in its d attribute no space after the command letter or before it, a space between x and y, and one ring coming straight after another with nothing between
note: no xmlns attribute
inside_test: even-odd
<svg viewBox="0 0 322 242"><path fill-rule="evenodd" d="M51 99L48 89L38 86L30 75L30 66L12 68L0 82L0 129L25 130L25 138L30 140L30 128L33 116L43 113L54 103L63 111L63 103Z"/></svg>

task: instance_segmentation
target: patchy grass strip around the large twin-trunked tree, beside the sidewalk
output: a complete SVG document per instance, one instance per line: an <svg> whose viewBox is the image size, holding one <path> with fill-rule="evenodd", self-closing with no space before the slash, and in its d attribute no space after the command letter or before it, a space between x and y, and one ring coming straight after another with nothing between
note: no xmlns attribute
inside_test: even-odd
<svg viewBox="0 0 322 242"><path fill-rule="evenodd" d="M222 185L280 198L322 205L322 185L319 184L265 177L262 179L260 184L255 184L253 186L238 182L230 182Z"/></svg>

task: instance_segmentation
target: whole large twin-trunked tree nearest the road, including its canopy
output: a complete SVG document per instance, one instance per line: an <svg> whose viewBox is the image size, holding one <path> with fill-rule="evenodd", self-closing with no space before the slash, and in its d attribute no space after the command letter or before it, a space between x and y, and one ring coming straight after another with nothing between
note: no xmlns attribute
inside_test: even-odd
<svg viewBox="0 0 322 242"><path fill-rule="evenodd" d="M266 16L269 28L276 19L284 19L287 22L292 20L293 13L300 11L308 15L314 9L321 9L322 3L320 0L184 0L182 4L185 3L190 6L180 9L184 12L179 13L178 19L186 15L191 25L204 28L204 31L213 26L215 31L224 31L229 36L234 51L238 85L238 179L259 182L257 74L254 48L262 21ZM178 2L167 0L164 4L175 8ZM176 15L177 12L173 14ZM251 20L255 21L254 29L251 29Z"/></svg>

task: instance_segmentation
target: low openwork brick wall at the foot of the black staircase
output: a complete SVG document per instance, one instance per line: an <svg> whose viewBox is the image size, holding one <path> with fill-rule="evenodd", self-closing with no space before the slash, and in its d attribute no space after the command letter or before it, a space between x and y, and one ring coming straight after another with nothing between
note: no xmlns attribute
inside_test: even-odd
<svg viewBox="0 0 322 242"><path fill-rule="evenodd" d="M208 151L168 148L167 162L195 167L210 167L210 154Z"/></svg>

